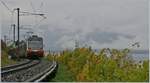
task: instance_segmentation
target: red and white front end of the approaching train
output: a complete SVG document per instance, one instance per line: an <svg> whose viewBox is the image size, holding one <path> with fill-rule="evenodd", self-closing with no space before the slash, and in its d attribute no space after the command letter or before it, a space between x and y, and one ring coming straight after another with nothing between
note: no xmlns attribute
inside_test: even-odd
<svg viewBox="0 0 150 83"><path fill-rule="evenodd" d="M33 35L27 40L27 57L43 57L43 38L38 37L37 35Z"/></svg>

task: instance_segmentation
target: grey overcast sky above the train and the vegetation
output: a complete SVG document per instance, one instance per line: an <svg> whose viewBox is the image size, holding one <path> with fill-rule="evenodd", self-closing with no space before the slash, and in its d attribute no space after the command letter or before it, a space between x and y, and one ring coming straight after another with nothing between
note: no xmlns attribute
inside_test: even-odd
<svg viewBox="0 0 150 83"><path fill-rule="evenodd" d="M45 14L44 20L40 16L20 17L21 26L44 38L45 49L74 48L75 40L95 49L122 49L135 42L140 42L138 49L148 49L148 0L2 1L10 10L19 7L21 11ZM12 39L10 25L16 23L16 13L12 15L2 3L0 10L1 35Z"/></svg>

